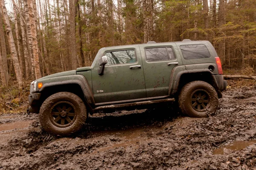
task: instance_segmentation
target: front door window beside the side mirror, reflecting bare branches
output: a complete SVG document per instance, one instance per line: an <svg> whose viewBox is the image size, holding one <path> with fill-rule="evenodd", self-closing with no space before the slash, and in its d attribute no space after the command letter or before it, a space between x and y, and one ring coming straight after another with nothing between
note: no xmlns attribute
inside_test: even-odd
<svg viewBox="0 0 256 170"><path fill-rule="evenodd" d="M136 56L135 56L134 50L111 51L111 52L107 52L105 56L108 57L107 65L136 62Z"/></svg>

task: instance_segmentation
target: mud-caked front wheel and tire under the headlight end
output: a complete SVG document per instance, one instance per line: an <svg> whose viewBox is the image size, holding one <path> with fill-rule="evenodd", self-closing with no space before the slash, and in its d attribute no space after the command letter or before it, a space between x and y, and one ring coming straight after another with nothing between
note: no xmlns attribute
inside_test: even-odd
<svg viewBox="0 0 256 170"><path fill-rule="evenodd" d="M53 135L69 136L76 133L83 127L86 119L84 102L70 92L59 92L49 96L39 112L42 127Z"/></svg>

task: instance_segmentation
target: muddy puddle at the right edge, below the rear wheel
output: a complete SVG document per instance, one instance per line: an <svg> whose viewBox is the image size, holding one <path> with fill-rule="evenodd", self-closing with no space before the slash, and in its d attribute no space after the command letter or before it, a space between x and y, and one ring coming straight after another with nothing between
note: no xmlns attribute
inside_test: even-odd
<svg viewBox="0 0 256 170"><path fill-rule="evenodd" d="M235 141L232 144L227 145L223 148L218 148L213 150L213 154L217 155L224 155L225 150L241 150L246 148L247 146L250 146L252 144L256 144L256 140L250 140L250 141Z"/></svg>

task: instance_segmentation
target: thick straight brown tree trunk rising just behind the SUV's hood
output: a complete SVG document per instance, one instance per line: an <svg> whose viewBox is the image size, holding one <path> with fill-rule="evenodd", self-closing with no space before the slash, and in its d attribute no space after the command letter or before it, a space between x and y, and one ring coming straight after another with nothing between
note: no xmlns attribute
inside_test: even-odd
<svg viewBox="0 0 256 170"><path fill-rule="evenodd" d="M71 69L75 70L77 67L77 60L76 60L76 0L69 1L69 8L70 8L70 57L71 57Z"/></svg>

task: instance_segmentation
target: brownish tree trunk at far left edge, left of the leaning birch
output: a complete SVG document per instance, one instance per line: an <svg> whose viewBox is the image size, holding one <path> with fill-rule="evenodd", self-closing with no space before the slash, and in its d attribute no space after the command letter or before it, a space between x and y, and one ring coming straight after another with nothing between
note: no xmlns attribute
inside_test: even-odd
<svg viewBox="0 0 256 170"><path fill-rule="evenodd" d="M6 53L6 43L5 43L5 39L4 39L4 32L3 32L3 21L2 21L2 14L0 12L0 46L1 46L1 51L2 51L2 65L3 65L3 77L4 80L2 79L2 81L4 81L3 83L5 85L8 85L9 83L9 74L8 74L8 63L7 63L7 53Z"/></svg>

